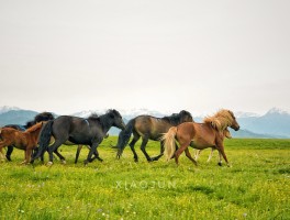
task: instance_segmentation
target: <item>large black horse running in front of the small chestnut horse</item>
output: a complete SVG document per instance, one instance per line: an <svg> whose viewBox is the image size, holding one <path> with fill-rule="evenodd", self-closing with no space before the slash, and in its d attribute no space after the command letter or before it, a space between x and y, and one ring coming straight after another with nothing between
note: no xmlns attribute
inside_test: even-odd
<svg viewBox="0 0 290 220"><path fill-rule="evenodd" d="M43 156L45 151L48 151L49 162L47 165L53 165L53 152L57 151L66 141L69 141L74 144L90 146L88 157L85 161L85 165L87 165L94 160L91 158L92 154L96 153L96 157L99 157L97 147L111 127L116 127L121 130L125 128L124 121L116 110L108 110L105 114L89 117L88 119L60 116L55 120L48 121L40 134L40 151L33 157L32 163L35 158ZM48 146L52 136L55 142ZM65 161L65 157L60 155L60 160Z"/></svg>

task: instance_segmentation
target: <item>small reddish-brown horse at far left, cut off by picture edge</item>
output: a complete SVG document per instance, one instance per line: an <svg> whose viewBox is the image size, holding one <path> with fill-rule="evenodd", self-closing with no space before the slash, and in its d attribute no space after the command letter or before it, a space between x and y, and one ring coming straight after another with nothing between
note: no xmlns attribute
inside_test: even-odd
<svg viewBox="0 0 290 220"><path fill-rule="evenodd" d="M2 148L4 146L15 146L24 150L24 161L22 164L27 164L31 161L32 151L37 146L38 134L43 122L38 122L25 131L19 131L13 128L2 128L0 130L0 154L1 160L4 160Z"/></svg>

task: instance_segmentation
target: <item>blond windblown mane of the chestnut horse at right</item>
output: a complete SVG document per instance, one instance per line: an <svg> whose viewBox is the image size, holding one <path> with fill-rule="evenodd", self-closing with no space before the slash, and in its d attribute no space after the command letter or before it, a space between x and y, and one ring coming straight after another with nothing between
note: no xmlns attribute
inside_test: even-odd
<svg viewBox="0 0 290 220"><path fill-rule="evenodd" d="M224 131L228 125L233 123L233 112L226 109L217 111L212 117L207 117L203 122L211 123L211 125L217 131Z"/></svg>

